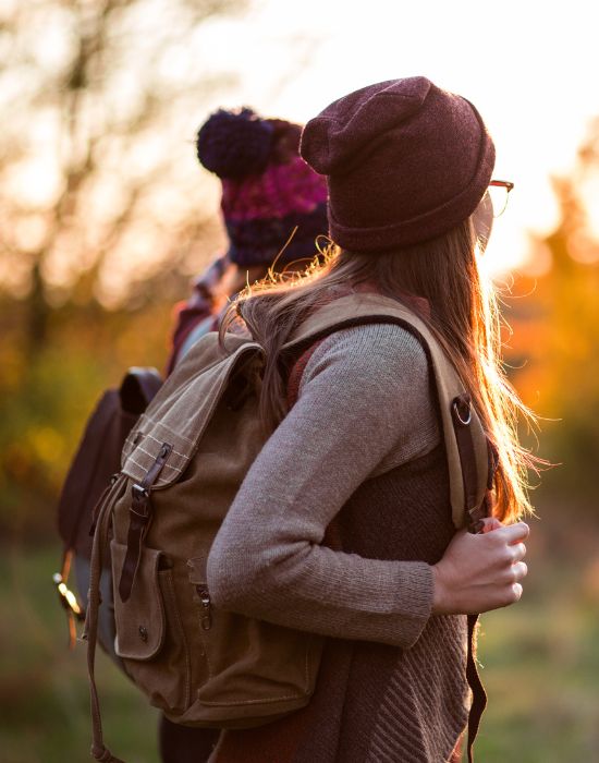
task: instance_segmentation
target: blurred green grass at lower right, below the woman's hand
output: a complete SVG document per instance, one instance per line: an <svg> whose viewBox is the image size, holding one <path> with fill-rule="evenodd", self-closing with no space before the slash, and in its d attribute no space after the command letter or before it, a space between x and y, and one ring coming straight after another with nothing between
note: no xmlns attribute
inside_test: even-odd
<svg viewBox="0 0 599 763"><path fill-rule="evenodd" d="M573 562L558 570L550 558L533 558L524 600L482 617L489 711L477 743L481 761L597 759L599 619L582 572Z"/></svg>

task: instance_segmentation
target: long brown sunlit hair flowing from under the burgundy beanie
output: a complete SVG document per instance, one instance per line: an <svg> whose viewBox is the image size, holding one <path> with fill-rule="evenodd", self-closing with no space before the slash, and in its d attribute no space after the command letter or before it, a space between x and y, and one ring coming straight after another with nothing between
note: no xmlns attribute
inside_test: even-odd
<svg viewBox="0 0 599 763"><path fill-rule="evenodd" d="M265 347L260 411L273 428L288 410L282 347L315 308L335 290L360 284L407 304L429 326L470 395L499 452L493 513L514 521L531 510L527 473L541 463L519 445L516 424L522 415L533 424L536 420L503 371L498 300L493 284L481 277L476 247L472 218L445 235L401 251L357 253L333 245L325 262L315 262L301 275L271 274L248 287L227 311L221 337L241 316ZM427 308L420 310L419 303Z"/></svg>

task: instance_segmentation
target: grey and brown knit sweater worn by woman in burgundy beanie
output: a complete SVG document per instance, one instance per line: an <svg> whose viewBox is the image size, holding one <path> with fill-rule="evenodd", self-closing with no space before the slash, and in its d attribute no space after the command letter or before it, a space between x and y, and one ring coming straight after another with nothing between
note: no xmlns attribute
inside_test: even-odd
<svg viewBox="0 0 599 763"><path fill-rule="evenodd" d="M427 360L394 325L320 342L215 542L217 605L328 641L308 706L211 763L442 763L466 725L465 617L431 617L454 533ZM343 553L321 546L334 518ZM326 542L326 541L325 541ZM398 561L401 559L402 561Z"/></svg>

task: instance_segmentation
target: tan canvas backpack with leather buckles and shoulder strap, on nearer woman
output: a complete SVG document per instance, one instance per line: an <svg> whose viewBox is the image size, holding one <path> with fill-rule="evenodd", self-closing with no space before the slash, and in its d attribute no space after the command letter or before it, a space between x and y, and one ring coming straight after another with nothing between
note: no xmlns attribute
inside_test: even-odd
<svg viewBox="0 0 599 763"><path fill-rule="evenodd" d="M316 311L284 347L290 362L332 331L396 323L420 340L439 399L456 528L486 512L489 449L453 365L423 320L396 301L351 294ZM94 722L99 581L111 562L115 652L136 686L178 724L247 728L297 710L314 691L323 639L242 615L210 600L212 541L266 441L257 400L262 347L209 334L188 352L132 428L121 471L98 510L85 637Z"/></svg>

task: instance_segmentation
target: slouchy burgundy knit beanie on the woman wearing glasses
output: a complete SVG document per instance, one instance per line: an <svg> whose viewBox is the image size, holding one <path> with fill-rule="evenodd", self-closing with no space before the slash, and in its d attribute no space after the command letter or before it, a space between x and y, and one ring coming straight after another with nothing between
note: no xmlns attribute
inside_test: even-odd
<svg viewBox="0 0 599 763"><path fill-rule="evenodd" d="M494 146L475 107L424 76L390 80L311 119L301 153L329 186L329 232L345 250L428 241L485 195Z"/></svg>

